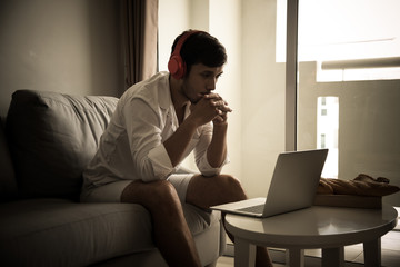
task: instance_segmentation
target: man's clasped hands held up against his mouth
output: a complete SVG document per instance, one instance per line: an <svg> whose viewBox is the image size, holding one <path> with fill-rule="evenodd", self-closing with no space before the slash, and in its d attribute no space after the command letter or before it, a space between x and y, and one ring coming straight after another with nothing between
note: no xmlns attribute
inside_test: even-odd
<svg viewBox="0 0 400 267"><path fill-rule="evenodd" d="M227 125L228 112L232 112L228 102L218 93L209 93L204 95L198 103L192 105L191 116L199 126L211 120L214 125Z"/></svg>

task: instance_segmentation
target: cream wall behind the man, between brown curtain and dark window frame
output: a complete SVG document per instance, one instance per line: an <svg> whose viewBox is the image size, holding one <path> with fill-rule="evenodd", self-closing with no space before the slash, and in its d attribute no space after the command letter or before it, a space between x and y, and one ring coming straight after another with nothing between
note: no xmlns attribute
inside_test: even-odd
<svg viewBox="0 0 400 267"><path fill-rule="evenodd" d="M160 0L159 8L160 69L184 29L208 30L226 46L228 65L217 91L233 112L231 162L223 171L239 178L250 197L266 196L277 155L284 149L284 65L276 63L276 1Z"/></svg>

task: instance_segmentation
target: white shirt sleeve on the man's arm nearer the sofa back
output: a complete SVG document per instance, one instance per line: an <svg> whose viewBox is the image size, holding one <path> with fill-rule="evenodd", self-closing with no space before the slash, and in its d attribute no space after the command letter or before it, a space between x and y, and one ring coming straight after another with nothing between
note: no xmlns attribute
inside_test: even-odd
<svg viewBox="0 0 400 267"><path fill-rule="evenodd" d="M143 181L166 179L173 170L162 145L162 119L140 98L133 98L123 108L130 151L137 175Z"/></svg>

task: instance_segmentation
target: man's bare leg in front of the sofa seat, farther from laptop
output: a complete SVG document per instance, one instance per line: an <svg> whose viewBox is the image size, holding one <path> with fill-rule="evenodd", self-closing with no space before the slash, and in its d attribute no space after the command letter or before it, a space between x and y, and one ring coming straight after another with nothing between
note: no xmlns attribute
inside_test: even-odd
<svg viewBox="0 0 400 267"><path fill-rule="evenodd" d="M133 181L123 190L121 201L140 204L149 210L156 246L169 266L201 266L182 205L169 181Z"/></svg>

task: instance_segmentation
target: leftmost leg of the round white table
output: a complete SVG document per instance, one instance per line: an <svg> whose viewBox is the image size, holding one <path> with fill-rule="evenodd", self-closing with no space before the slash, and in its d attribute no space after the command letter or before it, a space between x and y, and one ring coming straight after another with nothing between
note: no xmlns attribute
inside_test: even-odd
<svg viewBox="0 0 400 267"><path fill-rule="evenodd" d="M234 237L234 267L253 267L256 264L256 245Z"/></svg>

